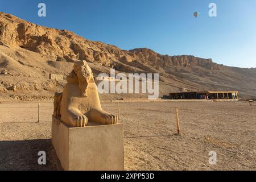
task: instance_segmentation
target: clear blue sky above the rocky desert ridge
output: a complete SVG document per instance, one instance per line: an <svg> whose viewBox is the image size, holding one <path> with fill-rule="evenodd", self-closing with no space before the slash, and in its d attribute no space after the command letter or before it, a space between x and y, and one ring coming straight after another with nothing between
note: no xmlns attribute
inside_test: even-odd
<svg viewBox="0 0 256 182"><path fill-rule="evenodd" d="M46 17L38 16L40 2L46 3ZM208 15L211 2L217 17ZM255 0L0 0L0 11L121 49L147 47L163 55L256 67Z"/></svg>

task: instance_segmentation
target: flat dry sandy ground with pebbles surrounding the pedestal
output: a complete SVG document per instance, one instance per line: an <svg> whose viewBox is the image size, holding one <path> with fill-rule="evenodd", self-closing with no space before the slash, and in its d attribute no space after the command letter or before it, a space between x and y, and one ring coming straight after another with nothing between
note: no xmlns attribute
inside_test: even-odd
<svg viewBox="0 0 256 182"><path fill-rule="evenodd" d="M36 102L0 104L0 170L61 170L50 140L53 104L40 106L36 123ZM175 106L181 135L176 135ZM102 107L117 113L116 103ZM256 169L255 104L124 102L120 109L126 170ZM45 166L38 164L39 151L46 151ZM216 165L209 164L209 151L217 152Z"/></svg>

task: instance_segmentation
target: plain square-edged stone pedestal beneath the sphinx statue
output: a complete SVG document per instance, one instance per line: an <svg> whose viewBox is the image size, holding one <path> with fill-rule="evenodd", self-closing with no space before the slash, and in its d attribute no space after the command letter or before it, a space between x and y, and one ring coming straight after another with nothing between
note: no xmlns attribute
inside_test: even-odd
<svg viewBox="0 0 256 182"><path fill-rule="evenodd" d="M64 170L124 169L123 125L68 127L52 117L52 144Z"/></svg>

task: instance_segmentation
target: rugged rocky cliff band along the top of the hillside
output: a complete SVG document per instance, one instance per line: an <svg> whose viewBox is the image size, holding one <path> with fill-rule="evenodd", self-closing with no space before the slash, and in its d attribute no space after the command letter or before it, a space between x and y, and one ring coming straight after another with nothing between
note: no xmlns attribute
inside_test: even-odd
<svg viewBox="0 0 256 182"><path fill-rule="evenodd" d="M198 65L218 69L211 59L195 56L160 55L147 48L123 51L118 47L86 40L67 30L38 26L13 15L0 13L0 44L21 47L41 55L52 56L56 61L86 60L105 65L137 61L155 68L191 67Z"/></svg>

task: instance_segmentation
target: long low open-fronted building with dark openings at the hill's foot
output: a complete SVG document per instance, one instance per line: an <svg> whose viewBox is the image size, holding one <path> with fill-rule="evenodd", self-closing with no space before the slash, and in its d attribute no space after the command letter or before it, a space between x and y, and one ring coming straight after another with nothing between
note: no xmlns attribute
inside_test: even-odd
<svg viewBox="0 0 256 182"><path fill-rule="evenodd" d="M197 91L169 93L170 99L238 100L237 91Z"/></svg>

